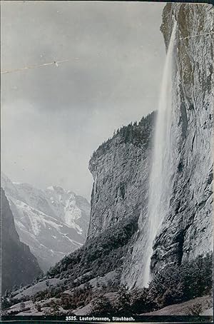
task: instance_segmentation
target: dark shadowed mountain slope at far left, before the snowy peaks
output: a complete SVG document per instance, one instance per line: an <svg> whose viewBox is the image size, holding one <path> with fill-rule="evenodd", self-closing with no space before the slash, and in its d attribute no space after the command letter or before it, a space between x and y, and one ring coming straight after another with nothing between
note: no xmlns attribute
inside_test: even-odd
<svg viewBox="0 0 214 324"><path fill-rule="evenodd" d="M21 243L9 202L1 188L1 291L14 285L26 285L41 274L29 246Z"/></svg>

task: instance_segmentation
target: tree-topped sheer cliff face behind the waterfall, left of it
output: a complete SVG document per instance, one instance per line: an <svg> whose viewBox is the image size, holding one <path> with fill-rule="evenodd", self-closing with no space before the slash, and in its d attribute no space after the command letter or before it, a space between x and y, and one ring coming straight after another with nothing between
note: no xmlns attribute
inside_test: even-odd
<svg viewBox="0 0 214 324"><path fill-rule="evenodd" d="M146 207L154 116L152 113L138 125L121 128L93 153L89 162L94 183L88 238L124 218L138 221Z"/></svg>

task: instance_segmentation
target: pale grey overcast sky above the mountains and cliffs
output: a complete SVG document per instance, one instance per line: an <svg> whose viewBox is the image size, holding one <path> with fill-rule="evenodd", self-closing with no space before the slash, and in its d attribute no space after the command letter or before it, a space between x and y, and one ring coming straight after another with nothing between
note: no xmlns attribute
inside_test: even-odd
<svg viewBox="0 0 214 324"><path fill-rule="evenodd" d="M157 108L164 4L1 1L1 170L91 197L91 153Z"/></svg>

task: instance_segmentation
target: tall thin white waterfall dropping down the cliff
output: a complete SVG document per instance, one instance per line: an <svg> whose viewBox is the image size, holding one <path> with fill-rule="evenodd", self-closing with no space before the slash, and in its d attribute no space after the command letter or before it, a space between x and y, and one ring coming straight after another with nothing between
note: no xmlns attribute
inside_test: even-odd
<svg viewBox="0 0 214 324"><path fill-rule="evenodd" d="M149 179L148 222L146 228L148 241L146 243L145 265L143 269L144 286L148 286L148 282L151 280L153 241L169 208L170 176L172 175L170 168L170 128L172 124L172 76L175 31L176 23L173 26L165 58L153 138L153 156Z"/></svg>

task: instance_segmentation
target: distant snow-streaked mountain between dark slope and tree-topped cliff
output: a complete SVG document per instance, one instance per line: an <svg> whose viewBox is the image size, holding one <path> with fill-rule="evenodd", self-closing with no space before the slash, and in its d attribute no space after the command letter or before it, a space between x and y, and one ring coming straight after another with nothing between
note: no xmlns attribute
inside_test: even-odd
<svg viewBox="0 0 214 324"><path fill-rule="evenodd" d="M90 204L58 186L41 190L29 183L13 183L1 173L20 240L29 245L42 270L86 240Z"/></svg>

